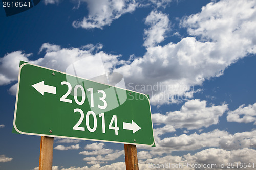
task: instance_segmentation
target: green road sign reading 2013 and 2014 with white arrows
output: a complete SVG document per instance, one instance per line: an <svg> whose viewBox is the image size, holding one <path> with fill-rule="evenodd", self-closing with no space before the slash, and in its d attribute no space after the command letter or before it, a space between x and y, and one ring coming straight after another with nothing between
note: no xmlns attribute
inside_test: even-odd
<svg viewBox="0 0 256 170"><path fill-rule="evenodd" d="M142 145L155 142L145 94L30 63L19 67L13 127L28 135Z"/></svg>

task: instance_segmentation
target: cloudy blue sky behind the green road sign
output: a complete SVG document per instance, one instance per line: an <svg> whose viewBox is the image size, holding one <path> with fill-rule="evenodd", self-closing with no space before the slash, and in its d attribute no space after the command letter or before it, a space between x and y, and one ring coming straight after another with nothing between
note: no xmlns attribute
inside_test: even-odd
<svg viewBox="0 0 256 170"><path fill-rule="evenodd" d="M150 94L156 147L137 146L140 169L256 166L255 6L42 0L9 17L0 8L0 169L38 169L40 137L12 134L19 60L65 72L89 56L122 74L127 89ZM76 69L89 75L101 66L84 65ZM55 170L124 169L124 162L123 144L54 140Z"/></svg>

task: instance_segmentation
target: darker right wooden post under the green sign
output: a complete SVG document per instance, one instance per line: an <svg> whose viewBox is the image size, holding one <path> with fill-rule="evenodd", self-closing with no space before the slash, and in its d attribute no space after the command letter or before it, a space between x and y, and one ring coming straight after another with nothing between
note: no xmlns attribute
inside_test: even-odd
<svg viewBox="0 0 256 170"><path fill-rule="evenodd" d="M136 145L124 144L126 170L139 170Z"/></svg>

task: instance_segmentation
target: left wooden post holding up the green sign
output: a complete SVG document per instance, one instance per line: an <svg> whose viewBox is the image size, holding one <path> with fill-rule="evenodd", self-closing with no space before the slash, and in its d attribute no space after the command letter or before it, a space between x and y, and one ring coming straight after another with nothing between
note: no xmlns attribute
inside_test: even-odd
<svg viewBox="0 0 256 170"><path fill-rule="evenodd" d="M52 169L53 137L41 136L39 170Z"/></svg>

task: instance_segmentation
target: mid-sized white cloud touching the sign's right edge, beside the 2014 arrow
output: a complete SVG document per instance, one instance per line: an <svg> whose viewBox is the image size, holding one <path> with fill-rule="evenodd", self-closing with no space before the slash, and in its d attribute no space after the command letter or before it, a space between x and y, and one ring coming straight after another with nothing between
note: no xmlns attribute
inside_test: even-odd
<svg viewBox="0 0 256 170"><path fill-rule="evenodd" d="M166 114L152 114L153 123L174 126L175 129L199 129L217 124L219 117L228 109L227 104L220 106L206 106L206 101L193 99L187 101L180 111L167 112Z"/></svg>

